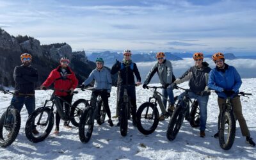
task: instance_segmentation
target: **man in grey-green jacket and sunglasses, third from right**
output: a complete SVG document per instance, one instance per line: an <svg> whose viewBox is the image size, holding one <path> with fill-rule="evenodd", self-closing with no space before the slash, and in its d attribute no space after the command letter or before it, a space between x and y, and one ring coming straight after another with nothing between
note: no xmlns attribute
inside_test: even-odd
<svg viewBox="0 0 256 160"><path fill-rule="evenodd" d="M174 98L173 98L173 90L170 84L172 83L172 63L171 61L165 60L164 52L157 52L156 54L157 63L154 65L153 68L151 68L150 72L148 72L147 78L143 84L143 88L147 88L147 84L150 83L150 80L154 76L154 74L157 72L159 81L162 84L162 94L164 99L164 107L166 108L167 103L167 95L170 99L170 109L174 108ZM170 110L169 109L169 110ZM163 113L159 117L159 120L164 120Z"/></svg>

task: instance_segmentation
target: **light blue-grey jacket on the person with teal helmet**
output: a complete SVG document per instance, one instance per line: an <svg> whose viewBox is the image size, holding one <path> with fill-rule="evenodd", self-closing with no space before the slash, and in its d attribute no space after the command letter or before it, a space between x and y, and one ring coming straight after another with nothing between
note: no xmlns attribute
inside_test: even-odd
<svg viewBox="0 0 256 160"><path fill-rule="evenodd" d="M89 77L83 82L84 86L90 84L93 79L95 80L93 88L97 90L107 89L109 93L111 92L112 79L108 69L98 70L95 68L92 70Z"/></svg>

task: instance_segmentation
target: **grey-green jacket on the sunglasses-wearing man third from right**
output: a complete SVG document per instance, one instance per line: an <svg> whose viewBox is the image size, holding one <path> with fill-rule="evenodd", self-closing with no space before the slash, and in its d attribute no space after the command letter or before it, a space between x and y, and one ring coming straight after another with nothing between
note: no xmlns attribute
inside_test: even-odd
<svg viewBox="0 0 256 160"><path fill-rule="evenodd" d="M164 60L163 63L159 64L158 62L154 65L153 68L148 72L144 84L150 83L150 80L157 72L159 81L162 85L172 83L172 63L171 61Z"/></svg>

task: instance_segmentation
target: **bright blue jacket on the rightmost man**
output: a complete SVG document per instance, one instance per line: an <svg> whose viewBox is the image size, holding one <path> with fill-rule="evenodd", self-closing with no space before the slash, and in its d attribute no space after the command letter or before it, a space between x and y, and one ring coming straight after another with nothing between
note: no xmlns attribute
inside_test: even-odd
<svg viewBox="0 0 256 160"><path fill-rule="evenodd" d="M209 88L211 90L216 90L218 96L224 99L226 99L227 96L225 93L223 93L223 90L233 90L234 92L238 93L242 84L241 77L236 68L227 64L225 65L227 67L225 67L225 72L221 72L218 70L218 68L212 69L209 74L208 81ZM234 97L234 95L231 97Z"/></svg>

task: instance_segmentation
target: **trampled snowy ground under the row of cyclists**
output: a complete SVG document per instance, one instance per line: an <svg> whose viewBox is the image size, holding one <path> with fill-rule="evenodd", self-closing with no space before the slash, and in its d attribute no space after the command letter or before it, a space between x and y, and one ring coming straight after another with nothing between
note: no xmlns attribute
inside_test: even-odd
<svg viewBox="0 0 256 160"><path fill-rule="evenodd" d="M241 97L243 115L251 135L256 140L256 79L243 79L241 91L253 93L250 99ZM180 85L188 87L188 83ZM179 95L181 90L175 90ZM36 108L49 99L51 92L36 91ZM137 104L140 106L152 95L150 90L144 90L141 86L136 88ZM74 96L76 99L90 99L90 91L79 92ZM12 96L0 93L0 114L5 111ZM198 128L190 127L184 122L177 138L170 142L166 138L166 128L169 119L159 122L156 131L148 136L141 134L129 122L127 136L120 135L119 127L109 127L108 123L101 126L95 122L91 140L84 144L79 141L77 127L72 129L60 126L60 136L50 135L45 141L31 143L26 139L24 125L28 114L24 107L21 111L22 124L19 136L7 148L0 148L0 159L255 159L255 148L245 143L241 136L237 122L236 140L233 147L226 151L220 148L217 139L212 135L217 131L218 106L216 94L212 93L207 106L207 129L205 138L199 137ZM112 116L115 115L116 88L112 88L109 99ZM114 119L116 125L117 119ZM254 157L254 158L253 158Z"/></svg>

